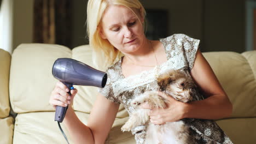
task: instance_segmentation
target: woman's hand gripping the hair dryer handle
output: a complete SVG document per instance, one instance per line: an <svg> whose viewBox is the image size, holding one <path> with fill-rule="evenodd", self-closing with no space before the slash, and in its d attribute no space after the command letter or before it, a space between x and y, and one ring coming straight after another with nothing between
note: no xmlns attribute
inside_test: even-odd
<svg viewBox="0 0 256 144"><path fill-rule="evenodd" d="M66 107L67 105L73 105L73 99L75 94L77 94L77 89L71 89L71 95L68 94L69 89L62 82L58 81L55 88L51 92L49 103L54 106Z"/></svg>

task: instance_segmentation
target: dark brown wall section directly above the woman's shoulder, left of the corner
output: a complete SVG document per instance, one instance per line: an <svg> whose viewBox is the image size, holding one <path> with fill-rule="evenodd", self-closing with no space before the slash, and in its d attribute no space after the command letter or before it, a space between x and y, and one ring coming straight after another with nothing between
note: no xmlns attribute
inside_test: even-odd
<svg viewBox="0 0 256 144"><path fill-rule="evenodd" d="M202 39L202 0L141 0L145 9L168 10L168 35L184 33Z"/></svg>

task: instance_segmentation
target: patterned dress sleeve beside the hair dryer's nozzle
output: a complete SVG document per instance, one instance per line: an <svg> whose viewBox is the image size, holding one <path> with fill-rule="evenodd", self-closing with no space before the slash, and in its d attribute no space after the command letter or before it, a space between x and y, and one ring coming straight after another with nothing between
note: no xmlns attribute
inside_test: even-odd
<svg viewBox="0 0 256 144"><path fill-rule="evenodd" d="M113 87L112 87L112 79L111 74L109 73L109 69L106 71L108 79L104 88L98 88L98 92L100 92L104 97L108 100L120 104L120 101L115 97Z"/></svg>

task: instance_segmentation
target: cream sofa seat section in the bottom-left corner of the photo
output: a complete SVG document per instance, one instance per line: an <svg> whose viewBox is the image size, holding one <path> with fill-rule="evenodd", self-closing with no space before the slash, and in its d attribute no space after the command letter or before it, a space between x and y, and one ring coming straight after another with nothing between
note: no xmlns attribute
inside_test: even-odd
<svg viewBox="0 0 256 144"><path fill-rule="evenodd" d="M13 117L0 118L0 143L11 144L13 143Z"/></svg>

